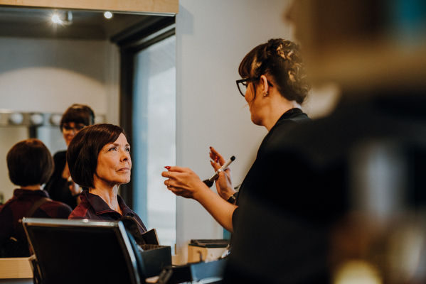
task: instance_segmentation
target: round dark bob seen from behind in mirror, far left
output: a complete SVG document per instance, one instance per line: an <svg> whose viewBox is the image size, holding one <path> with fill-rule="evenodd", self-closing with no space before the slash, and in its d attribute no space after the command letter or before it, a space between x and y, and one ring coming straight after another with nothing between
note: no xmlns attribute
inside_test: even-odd
<svg viewBox="0 0 426 284"><path fill-rule="evenodd" d="M14 185L43 185L53 173L50 151L38 139L31 138L16 143L7 153L9 178Z"/></svg>

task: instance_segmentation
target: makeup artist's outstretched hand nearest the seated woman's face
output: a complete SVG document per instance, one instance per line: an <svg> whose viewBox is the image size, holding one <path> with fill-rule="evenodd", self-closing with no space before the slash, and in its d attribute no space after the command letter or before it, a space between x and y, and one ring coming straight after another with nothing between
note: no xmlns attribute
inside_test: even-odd
<svg viewBox="0 0 426 284"><path fill-rule="evenodd" d="M202 190L210 190L208 186L198 178L198 175L189 168L165 167L168 171L161 173L164 185L175 195L198 200L198 193Z"/></svg>

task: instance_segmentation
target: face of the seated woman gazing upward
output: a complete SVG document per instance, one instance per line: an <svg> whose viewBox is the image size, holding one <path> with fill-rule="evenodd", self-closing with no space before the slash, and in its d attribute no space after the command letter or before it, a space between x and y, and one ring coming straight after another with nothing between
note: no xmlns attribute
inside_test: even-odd
<svg viewBox="0 0 426 284"><path fill-rule="evenodd" d="M127 183L131 170L130 145L121 133L115 142L105 145L97 156L95 186L96 181L108 186Z"/></svg>

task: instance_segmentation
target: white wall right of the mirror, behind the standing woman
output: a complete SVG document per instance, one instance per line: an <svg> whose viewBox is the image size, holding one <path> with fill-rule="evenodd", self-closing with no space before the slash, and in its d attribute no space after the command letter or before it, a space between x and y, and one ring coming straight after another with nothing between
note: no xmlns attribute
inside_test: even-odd
<svg viewBox="0 0 426 284"><path fill-rule="evenodd" d="M176 16L177 164L210 178L209 146L231 165L234 185L243 181L266 135L255 126L235 80L252 48L289 38L283 0L180 0ZM213 188L213 187L212 187ZM187 259L191 239L220 239L223 229L193 200L178 197L177 253Z"/></svg>

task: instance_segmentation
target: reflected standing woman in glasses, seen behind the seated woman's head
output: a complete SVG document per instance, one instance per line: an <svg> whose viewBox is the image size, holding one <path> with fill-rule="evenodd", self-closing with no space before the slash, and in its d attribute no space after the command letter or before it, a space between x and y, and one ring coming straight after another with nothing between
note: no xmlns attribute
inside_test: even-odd
<svg viewBox="0 0 426 284"><path fill-rule="evenodd" d="M84 104L73 104L69 107L60 120L60 131L67 148L78 131L94 122L95 114L90 107ZM74 209L80 202L79 195L82 189L70 176L66 153L67 151L60 151L53 156L55 170L46 184L45 190L49 192L50 198L53 200L64 202Z"/></svg>

